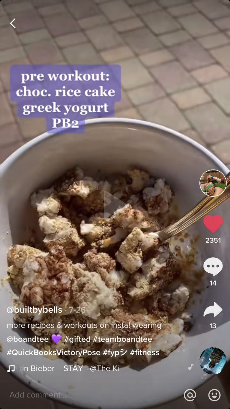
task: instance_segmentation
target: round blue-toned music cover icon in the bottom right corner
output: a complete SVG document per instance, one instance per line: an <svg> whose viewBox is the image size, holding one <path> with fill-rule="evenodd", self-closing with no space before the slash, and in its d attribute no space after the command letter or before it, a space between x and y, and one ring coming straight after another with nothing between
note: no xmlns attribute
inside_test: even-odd
<svg viewBox="0 0 230 409"><path fill-rule="evenodd" d="M203 371L210 375L217 375L225 366L227 361L226 355L221 349L213 346L205 349L200 356L200 366Z"/></svg>

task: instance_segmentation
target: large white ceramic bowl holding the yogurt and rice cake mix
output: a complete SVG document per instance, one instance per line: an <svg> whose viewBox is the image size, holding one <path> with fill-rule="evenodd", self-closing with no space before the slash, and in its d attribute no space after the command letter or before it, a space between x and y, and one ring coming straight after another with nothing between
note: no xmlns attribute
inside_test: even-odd
<svg viewBox="0 0 230 409"><path fill-rule="evenodd" d="M87 168L91 173L100 168L106 174L123 172L129 166L137 166L152 175L165 178L179 199L182 215L191 209L203 193L199 179L206 169L219 169L228 173L227 167L197 142L173 130L132 119L93 119L86 121L84 134L41 135L13 153L0 166L0 263L1 278L7 270L7 251L12 243L22 243L30 236L30 227L36 221L31 218L29 196L39 188L48 187L58 175L72 166ZM7 306L12 305L13 291L9 283L0 288L2 331L0 342L3 351L1 363L8 368L16 365L16 377L41 392L59 393L66 398L61 402L82 408L134 409L153 407L156 404L181 396L185 389L194 389L203 382L199 366L201 352L209 347L221 348L230 355L229 330L230 306L228 303L229 250L228 227L230 216L225 202L213 214L221 214L224 224L216 234L210 233L202 220L194 227L200 234L201 262L218 254L223 261L223 270L216 277L218 285L205 290L199 305L199 315L188 337L185 351L174 351L169 357L147 366L141 371L125 367L119 372L64 372L63 360L47 358L7 356L7 349L28 350L28 344L9 344L10 335L22 335L20 330L10 330L12 315ZM221 245L205 243L205 237L221 237ZM203 261L202 261L203 260ZM201 266L202 267L202 266ZM207 274L208 281L210 274ZM203 318L207 306L217 302L223 311L215 319ZM210 322L218 329L211 330ZM229 332L228 332L229 334ZM194 364L192 371L188 366ZM53 366L54 373L20 372L20 365L38 364ZM40 383L38 383L40 381Z"/></svg>

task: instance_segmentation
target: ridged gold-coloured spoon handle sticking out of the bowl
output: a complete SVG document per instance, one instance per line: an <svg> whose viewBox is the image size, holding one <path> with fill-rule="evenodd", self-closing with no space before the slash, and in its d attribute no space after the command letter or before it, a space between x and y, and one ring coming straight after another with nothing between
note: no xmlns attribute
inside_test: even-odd
<svg viewBox="0 0 230 409"><path fill-rule="evenodd" d="M220 196L206 196L201 202L199 202L192 210L190 210L185 216L177 220L175 223L166 227L165 229L158 232L161 241L167 240L168 238L180 233L180 231L187 229L197 220L206 216L210 211L214 210L217 206L223 203L226 199L230 197L230 173L227 177L226 189Z"/></svg>

